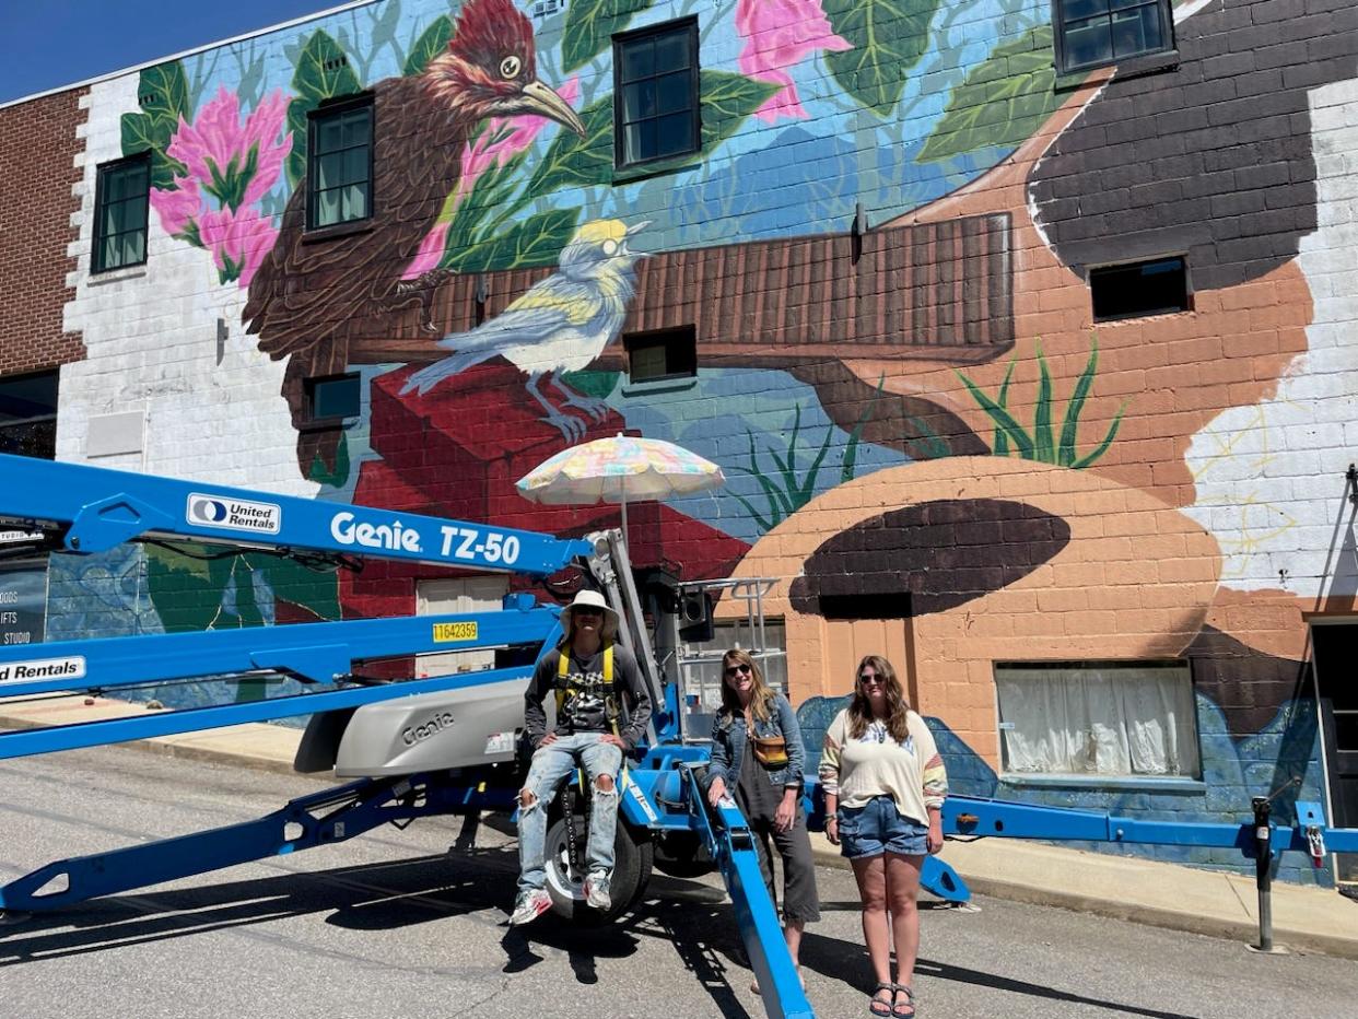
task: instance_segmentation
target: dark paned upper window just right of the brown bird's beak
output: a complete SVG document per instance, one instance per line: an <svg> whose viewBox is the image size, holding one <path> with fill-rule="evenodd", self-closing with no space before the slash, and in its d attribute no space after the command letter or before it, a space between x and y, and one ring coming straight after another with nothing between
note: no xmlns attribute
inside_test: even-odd
<svg viewBox="0 0 1358 1019"><path fill-rule="evenodd" d="M698 151L695 18L615 35L612 75L619 167Z"/></svg>

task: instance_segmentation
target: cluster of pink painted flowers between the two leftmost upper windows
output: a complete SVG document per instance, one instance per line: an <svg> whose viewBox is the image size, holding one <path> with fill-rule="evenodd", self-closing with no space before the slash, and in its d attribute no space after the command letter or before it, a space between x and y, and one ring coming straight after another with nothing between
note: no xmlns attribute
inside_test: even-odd
<svg viewBox="0 0 1358 1019"><path fill-rule="evenodd" d="M212 253L220 283L247 287L278 235L251 207L277 183L292 151L287 115L288 101L274 90L242 122L239 99L219 88L193 124L179 118L166 147L189 173L172 189L153 187L151 205L167 234Z"/></svg>

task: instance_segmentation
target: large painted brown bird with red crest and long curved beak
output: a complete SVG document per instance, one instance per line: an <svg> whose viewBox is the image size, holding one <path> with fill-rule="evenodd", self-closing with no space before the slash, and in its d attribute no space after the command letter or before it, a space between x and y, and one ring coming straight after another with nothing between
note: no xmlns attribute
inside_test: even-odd
<svg viewBox="0 0 1358 1019"><path fill-rule="evenodd" d="M259 349L288 359L282 395L297 428L297 465L333 467L334 432L308 432L304 382L348 367L349 341L373 318L421 302L428 318L439 276L411 291L403 268L462 175L462 154L488 117L547 117L584 135L570 106L535 69L532 23L513 0L467 0L445 52L424 72L373 87L373 215L365 230L307 235L307 181L292 192L273 251L250 284L243 319Z"/></svg>

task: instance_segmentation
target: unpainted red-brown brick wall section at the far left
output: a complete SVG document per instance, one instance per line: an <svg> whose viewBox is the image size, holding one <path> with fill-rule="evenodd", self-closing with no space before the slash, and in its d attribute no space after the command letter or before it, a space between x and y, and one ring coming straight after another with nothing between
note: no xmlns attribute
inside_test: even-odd
<svg viewBox="0 0 1358 1019"><path fill-rule="evenodd" d="M77 334L61 327L61 308L75 291L67 246L80 202L76 156L83 141L80 98L69 90L0 110L0 375L54 368L84 357Z"/></svg>

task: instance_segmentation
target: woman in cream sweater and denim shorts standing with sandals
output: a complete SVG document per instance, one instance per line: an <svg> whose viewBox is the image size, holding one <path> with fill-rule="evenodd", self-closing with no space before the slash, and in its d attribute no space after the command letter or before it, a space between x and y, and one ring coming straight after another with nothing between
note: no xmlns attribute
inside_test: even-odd
<svg viewBox="0 0 1358 1019"><path fill-rule="evenodd" d="M868 1011L910 1019L919 950L919 870L926 853L942 848L940 810L948 776L925 720L910 709L896 670L880 655L858 663L853 701L826 731L820 784L826 837L841 846L858 879L862 933L877 980Z"/></svg>

